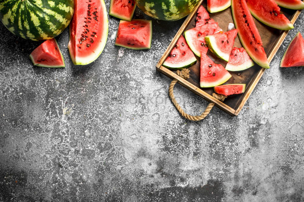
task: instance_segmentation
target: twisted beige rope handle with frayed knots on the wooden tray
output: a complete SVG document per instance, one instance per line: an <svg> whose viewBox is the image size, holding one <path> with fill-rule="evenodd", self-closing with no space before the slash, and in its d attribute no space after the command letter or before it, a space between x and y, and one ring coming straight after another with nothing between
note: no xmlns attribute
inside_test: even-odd
<svg viewBox="0 0 304 202"><path fill-rule="evenodd" d="M182 69L181 71L177 70L176 73L181 78L188 79L189 78L189 72L190 72L189 69ZM181 109L181 106L178 104L178 102L176 101L175 96L173 94L173 88L174 88L174 85L177 82L178 82L177 79L173 79L172 82L170 83L170 86L169 86L169 96L171 98L172 103L174 104L174 106L178 110L178 112L181 114L181 116L183 116L186 119L191 120L191 121L200 121L200 120L203 120L210 113L210 111L213 108L213 106L214 106L215 103L213 103L213 102L209 103L209 105L206 107L205 111L201 115L199 115L199 116L191 116L191 115L185 113L185 111L183 109ZM227 96L224 96L224 95L221 95L221 94L216 94L216 93L213 93L212 96L214 98L222 101L222 102L227 97Z"/></svg>

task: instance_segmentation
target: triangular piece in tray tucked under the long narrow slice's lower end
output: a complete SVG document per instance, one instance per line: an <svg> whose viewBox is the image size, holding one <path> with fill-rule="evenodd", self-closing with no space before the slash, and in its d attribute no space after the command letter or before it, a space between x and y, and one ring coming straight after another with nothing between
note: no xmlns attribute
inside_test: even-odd
<svg viewBox="0 0 304 202"><path fill-rule="evenodd" d="M254 63L244 48L234 47L225 69L228 71L242 71L254 66Z"/></svg>

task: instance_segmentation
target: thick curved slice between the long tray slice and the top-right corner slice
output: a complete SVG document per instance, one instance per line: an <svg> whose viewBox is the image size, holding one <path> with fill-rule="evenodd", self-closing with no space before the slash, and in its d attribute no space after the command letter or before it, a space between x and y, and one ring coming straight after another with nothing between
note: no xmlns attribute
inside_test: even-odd
<svg viewBox="0 0 304 202"><path fill-rule="evenodd" d="M274 0L246 0L251 14L270 27L282 30L293 29L293 25L282 14L281 9Z"/></svg>

